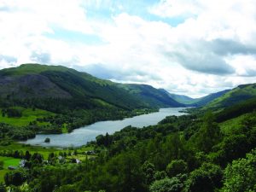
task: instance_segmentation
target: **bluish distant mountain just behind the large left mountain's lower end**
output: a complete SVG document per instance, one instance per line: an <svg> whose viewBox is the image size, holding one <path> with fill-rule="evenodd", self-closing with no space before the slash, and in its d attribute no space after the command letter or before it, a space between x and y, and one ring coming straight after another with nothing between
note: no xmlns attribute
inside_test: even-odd
<svg viewBox="0 0 256 192"><path fill-rule="evenodd" d="M132 96L136 96L147 104L148 107L184 107L185 105L173 100L167 92L155 89L148 84L119 84L119 87L127 90Z"/></svg>

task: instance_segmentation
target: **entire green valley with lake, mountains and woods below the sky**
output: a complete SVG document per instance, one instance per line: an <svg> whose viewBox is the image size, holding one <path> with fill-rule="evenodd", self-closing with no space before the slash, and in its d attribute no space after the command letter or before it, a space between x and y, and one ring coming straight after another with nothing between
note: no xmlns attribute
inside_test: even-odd
<svg viewBox="0 0 256 192"><path fill-rule="evenodd" d="M25 64L0 87L0 189L255 189L255 84L192 99Z"/></svg>

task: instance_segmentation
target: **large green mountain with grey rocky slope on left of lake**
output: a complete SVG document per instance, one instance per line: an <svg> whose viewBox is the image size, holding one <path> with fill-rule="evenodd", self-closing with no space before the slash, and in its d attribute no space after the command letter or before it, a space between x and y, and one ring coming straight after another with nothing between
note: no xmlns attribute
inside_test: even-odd
<svg viewBox="0 0 256 192"><path fill-rule="evenodd" d="M9 100L61 98L83 101L85 108L96 108L99 103L94 99L99 99L119 108L143 107L137 98L127 96L125 90L110 81L61 66L26 64L3 69L0 71L0 88L0 96Z"/></svg>

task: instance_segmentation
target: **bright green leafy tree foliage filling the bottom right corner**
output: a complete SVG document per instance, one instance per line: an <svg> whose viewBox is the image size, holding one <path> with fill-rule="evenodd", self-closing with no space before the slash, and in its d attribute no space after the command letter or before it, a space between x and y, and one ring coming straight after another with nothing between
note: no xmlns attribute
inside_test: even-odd
<svg viewBox="0 0 256 192"><path fill-rule="evenodd" d="M256 190L256 150L246 158L234 160L224 170L225 192Z"/></svg>

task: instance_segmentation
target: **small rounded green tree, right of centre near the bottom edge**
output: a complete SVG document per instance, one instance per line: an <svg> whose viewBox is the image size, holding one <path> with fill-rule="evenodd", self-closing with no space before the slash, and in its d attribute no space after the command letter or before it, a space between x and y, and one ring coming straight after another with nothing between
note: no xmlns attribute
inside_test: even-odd
<svg viewBox="0 0 256 192"><path fill-rule="evenodd" d="M166 173L169 177L174 177L179 173L188 172L188 165L184 160L172 160L166 167Z"/></svg>

